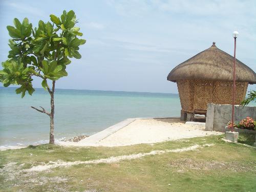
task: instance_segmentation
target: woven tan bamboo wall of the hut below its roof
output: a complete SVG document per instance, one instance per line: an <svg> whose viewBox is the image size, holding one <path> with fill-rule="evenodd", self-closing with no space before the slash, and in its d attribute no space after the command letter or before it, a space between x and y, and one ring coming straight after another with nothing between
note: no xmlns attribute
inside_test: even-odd
<svg viewBox="0 0 256 192"><path fill-rule="evenodd" d="M184 79L177 81L183 111L207 110L208 103L232 104L233 82ZM236 82L235 104L245 98L248 82Z"/></svg>

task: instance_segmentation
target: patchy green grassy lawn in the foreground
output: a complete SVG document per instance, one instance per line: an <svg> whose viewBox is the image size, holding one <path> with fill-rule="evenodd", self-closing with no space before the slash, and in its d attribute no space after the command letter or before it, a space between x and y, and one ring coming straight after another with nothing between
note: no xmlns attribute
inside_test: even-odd
<svg viewBox="0 0 256 192"><path fill-rule="evenodd" d="M256 149L226 143L222 136L121 147L39 145L0 153L2 191L255 191ZM244 140L244 139L243 139ZM43 163L88 161L111 156L174 150L112 163L78 164L42 172L26 169Z"/></svg>

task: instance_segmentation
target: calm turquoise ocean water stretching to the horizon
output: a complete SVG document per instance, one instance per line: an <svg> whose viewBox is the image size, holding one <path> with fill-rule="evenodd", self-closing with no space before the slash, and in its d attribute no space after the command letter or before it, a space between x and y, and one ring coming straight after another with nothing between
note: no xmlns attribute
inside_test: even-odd
<svg viewBox="0 0 256 192"><path fill-rule="evenodd" d="M36 89L33 96L0 87L0 145L49 142L50 119L30 106L50 111L50 96ZM178 94L116 91L55 91L55 139L92 135L126 118L180 116Z"/></svg>

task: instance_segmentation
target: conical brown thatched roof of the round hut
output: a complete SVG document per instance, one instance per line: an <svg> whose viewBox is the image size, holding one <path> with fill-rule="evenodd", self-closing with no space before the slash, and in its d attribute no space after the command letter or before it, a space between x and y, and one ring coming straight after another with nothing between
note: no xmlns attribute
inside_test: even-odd
<svg viewBox="0 0 256 192"><path fill-rule="evenodd" d="M233 81L233 59L233 56L218 49L214 42L209 49L176 66L167 76L167 80ZM256 83L256 73L238 59L236 59L236 81Z"/></svg>

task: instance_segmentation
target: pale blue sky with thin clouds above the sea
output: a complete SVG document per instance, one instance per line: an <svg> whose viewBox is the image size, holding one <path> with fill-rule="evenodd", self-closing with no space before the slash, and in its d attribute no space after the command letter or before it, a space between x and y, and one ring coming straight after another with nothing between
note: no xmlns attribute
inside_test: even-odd
<svg viewBox="0 0 256 192"><path fill-rule="evenodd" d="M8 56L13 18L38 21L74 10L86 44L81 59L72 59L68 77L56 88L178 93L166 80L179 63L209 48L212 42L256 71L256 1L0 1L0 61ZM2 69L2 67L0 67ZM35 79L33 86L41 87ZM255 89L255 85L248 90Z"/></svg>

